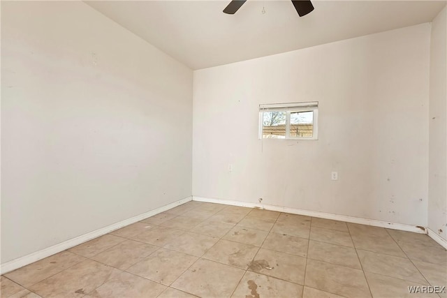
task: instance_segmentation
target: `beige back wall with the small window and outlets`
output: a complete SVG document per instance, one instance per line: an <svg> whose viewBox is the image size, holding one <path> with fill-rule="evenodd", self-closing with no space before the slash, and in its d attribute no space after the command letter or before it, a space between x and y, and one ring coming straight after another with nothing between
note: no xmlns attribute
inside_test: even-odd
<svg viewBox="0 0 447 298"><path fill-rule="evenodd" d="M427 225L429 65L420 24L194 71L193 195ZM299 101L318 140L258 140L259 104Z"/></svg>

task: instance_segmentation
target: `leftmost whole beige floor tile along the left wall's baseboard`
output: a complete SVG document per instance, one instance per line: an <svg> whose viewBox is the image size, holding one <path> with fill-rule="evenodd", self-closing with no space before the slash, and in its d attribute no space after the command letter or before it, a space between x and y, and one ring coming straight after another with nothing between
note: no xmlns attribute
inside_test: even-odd
<svg viewBox="0 0 447 298"><path fill-rule="evenodd" d="M15 271L5 274L10 280L19 283L20 285L28 288L30 285L34 285L39 281L43 281L60 271L76 265L85 260L85 258L75 253L68 251L62 251L48 258L39 260L30 265L17 269Z"/></svg>

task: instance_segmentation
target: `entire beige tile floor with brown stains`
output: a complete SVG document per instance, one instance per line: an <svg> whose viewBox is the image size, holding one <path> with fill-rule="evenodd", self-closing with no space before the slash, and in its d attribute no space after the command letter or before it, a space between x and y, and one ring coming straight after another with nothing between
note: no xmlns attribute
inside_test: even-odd
<svg viewBox="0 0 447 298"><path fill-rule="evenodd" d="M447 297L425 234L188 202L1 276L1 297ZM446 291L447 292L447 291Z"/></svg>

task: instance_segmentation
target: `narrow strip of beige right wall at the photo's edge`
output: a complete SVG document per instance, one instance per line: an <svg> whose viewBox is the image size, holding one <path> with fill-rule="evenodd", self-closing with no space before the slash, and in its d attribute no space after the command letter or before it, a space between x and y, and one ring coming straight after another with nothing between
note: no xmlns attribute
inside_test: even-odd
<svg viewBox="0 0 447 298"><path fill-rule="evenodd" d="M447 239L447 18L432 22L430 47L430 165L428 228Z"/></svg>

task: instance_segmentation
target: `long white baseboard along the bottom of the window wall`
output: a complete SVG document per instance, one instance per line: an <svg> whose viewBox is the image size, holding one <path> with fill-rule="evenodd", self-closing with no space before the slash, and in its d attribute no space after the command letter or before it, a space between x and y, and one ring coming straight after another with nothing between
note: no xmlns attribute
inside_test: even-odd
<svg viewBox="0 0 447 298"><path fill-rule="evenodd" d="M420 234L427 234L426 228L418 227L415 225L405 225L403 223L388 223L386 221L376 221L374 219L367 219L367 218L360 218L360 217L353 217L353 216L346 216L346 215L339 215L339 214L330 214L330 213L310 211L310 210L305 210L305 209L295 209L295 208L266 205L266 204L257 204L257 203L250 203L250 202L240 202L240 201L233 201L233 200L203 198L203 197L196 197L195 195L193 196L193 201L227 204L227 205L249 207L249 208L261 208L261 209L265 209L265 210L272 210L272 211L286 212L286 213L291 213L291 214L299 214L299 215L312 216L312 217L318 217L318 218L332 219L335 221L346 221L347 223L359 223L360 225L372 225L374 227L380 227L380 228L388 228L388 229L393 229L393 230L402 230L402 231L407 231L407 232L416 232L416 233L420 233Z"/></svg>

